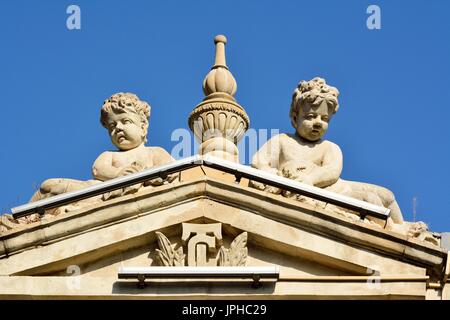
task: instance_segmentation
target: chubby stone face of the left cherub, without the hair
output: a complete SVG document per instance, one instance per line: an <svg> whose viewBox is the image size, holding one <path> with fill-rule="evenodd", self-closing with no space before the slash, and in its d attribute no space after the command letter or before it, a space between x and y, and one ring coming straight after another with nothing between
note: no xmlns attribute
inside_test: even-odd
<svg viewBox="0 0 450 320"><path fill-rule="evenodd" d="M134 113L112 113L108 118L112 143L120 150L130 150L145 141L146 132L140 117Z"/></svg>

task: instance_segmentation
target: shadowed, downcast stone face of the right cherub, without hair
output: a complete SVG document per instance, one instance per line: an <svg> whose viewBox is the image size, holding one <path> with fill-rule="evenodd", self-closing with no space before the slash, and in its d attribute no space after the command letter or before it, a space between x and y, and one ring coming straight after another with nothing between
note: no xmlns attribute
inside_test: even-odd
<svg viewBox="0 0 450 320"><path fill-rule="evenodd" d="M328 107L325 100L318 106L312 106L309 103L303 104L297 119L295 119L298 135L308 141L320 140L327 132L328 122L332 115L332 108Z"/></svg>

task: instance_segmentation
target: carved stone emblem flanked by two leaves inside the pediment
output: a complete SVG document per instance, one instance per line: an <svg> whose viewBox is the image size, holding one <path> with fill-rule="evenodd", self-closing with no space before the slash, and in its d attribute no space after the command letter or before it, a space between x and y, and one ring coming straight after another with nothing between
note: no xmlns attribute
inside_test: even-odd
<svg viewBox="0 0 450 320"><path fill-rule="evenodd" d="M186 264L183 246L174 245L161 232L156 232L156 261L160 266L179 267ZM247 261L247 232L238 235L229 248L223 246L222 224L183 223L182 243L187 253L187 266L242 267Z"/></svg>

